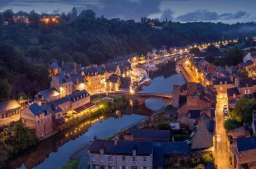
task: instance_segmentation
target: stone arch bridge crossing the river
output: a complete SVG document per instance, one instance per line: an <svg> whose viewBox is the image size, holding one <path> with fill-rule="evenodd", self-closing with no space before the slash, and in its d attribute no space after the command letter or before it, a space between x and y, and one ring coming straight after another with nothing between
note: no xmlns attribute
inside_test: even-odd
<svg viewBox="0 0 256 169"><path fill-rule="evenodd" d="M161 93L130 93L130 92L111 92L108 96L125 96L127 100L131 100L133 105L143 105L146 99L159 99L166 104L172 103L172 94Z"/></svg>

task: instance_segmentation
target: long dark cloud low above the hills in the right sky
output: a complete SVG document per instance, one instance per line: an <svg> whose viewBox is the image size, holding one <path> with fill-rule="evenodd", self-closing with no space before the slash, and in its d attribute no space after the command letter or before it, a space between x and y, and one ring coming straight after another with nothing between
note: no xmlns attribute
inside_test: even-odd
<svg viewBox="0 0 256 169"><path fill-rule="evenodd" d="M238 19L248 16L248 13L245 11L237 11L236 13L223 13L218 15L218 13L214 11L208 10L197 10L186 13L184 15L180 15L176 19L182 22L189 22L189 21L209 21L209 20L232 20Z"/></svg>

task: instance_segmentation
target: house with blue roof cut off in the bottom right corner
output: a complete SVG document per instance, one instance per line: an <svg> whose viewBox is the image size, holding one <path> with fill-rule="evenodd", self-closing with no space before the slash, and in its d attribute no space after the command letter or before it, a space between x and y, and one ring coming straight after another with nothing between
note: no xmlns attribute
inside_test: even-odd
<svg viewBox="0 0 256 169"><path fill-rule="evenodd" d="M256 168L256 137L237 138L229 147L232 165L237 169Z"/></svg>

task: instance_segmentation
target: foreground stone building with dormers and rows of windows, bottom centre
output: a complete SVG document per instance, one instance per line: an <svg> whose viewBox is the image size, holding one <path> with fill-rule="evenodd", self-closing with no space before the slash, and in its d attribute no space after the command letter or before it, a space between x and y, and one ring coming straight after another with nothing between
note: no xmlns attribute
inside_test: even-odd
<svg viewBox="0 0 256 169"><path fill-rule="evenodd" d="M152 169L153 145L150 141L95 140L88 148L90 168Z"/></svg>

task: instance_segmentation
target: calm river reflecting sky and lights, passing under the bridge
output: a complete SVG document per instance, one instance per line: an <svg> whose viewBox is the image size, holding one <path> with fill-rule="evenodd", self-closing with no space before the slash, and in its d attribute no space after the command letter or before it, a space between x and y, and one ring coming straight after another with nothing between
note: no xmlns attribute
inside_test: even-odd
<svg viewBox="0 0 256 169"><path fill-rule="evenodd" d="M166 62L158 71L150 72L149 77L152 78L152 83L144 86L140 92L170 94L173 84L185 83L182 75L175 72L174 62ZM74 128L45 139L35 147L20 152L8 161L9 168L61 168L72 152L93 140L95 135L98 138L106 138L132 122L152 114L152 110L163 106L162 101L147 99L145 106L127 107L121 114L104 114L90 121L84 121Z"/></svg>

